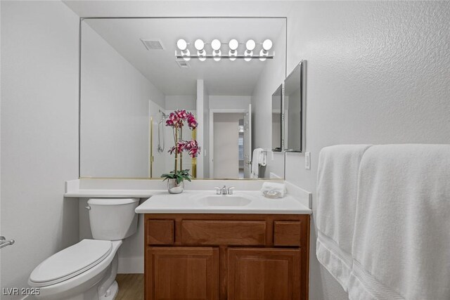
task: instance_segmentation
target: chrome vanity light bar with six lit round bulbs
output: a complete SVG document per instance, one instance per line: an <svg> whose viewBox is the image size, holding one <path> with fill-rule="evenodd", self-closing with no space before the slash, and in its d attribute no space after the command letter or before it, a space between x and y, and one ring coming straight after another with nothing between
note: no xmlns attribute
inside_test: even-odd
<svg viewBox="0 0 450 300"><path fill-rule="evenodd" d="M205 44L206 43L201 39L195 40L195 42L193 43L195 49L192 49L193 54L191 55L191 51L189 51L188 49L188 46L190 46L191 43L188 43L184 39L179 39L178 41L176 41L176 48L178 48L178 50L175 51L175 57L178 59L182 58L186 61L191 60L191 58L197 58L200 61L205 61L207 58L212 58L215 61L219 61L221 60L221 58L229 58L229 60L231 61L236 59L250 61L252 60L252 58L257 58L261 61L264 61L266 59L274 58L274 53L271 53L271 55L269 55L269 50L272 48L272 41L270 39L266 39L262 43L258 44L254 40L249 39L245 42L245 51L243 54L238 54L237 51L239 44L242 45L243 43L239 43L236 39L231 39L231 41L229 41L229 49L227 49L227 51L223 55L220 48L224 44L222 44L218 39L214 39L210 43L210 46L212 48L211 54L206 53ZM259 53L259 55L253 55L253 51L255 50L257 45L261 45L262 48L260 49L260 51L255 51L256 53ZM228 53L228 55L226 55L226 53Z"/></svg>

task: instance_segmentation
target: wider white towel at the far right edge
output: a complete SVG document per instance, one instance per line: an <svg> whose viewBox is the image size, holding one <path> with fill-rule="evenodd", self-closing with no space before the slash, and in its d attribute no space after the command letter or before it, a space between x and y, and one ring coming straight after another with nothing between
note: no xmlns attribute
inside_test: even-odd
<svg viewBox="0 0 450 300"><path fill-rule="evenodd" d="M450 145L361 160L349 299L450 299Z"/></svg>

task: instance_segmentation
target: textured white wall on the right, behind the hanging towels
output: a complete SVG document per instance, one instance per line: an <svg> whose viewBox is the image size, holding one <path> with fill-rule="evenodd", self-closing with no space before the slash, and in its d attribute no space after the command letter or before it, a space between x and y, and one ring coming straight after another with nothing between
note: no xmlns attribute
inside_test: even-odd
<svg viewBox="0 0 450 300"><path fill-rule="evenodd" d="M317 158L328 145L450 143L449 43L449 2L295 3L288 15L288 74L307 60L311 170L304 169L303 154L288 153L286 180L315 194ZM269 143L263 138L257 144ZM315 201L314 195L313 211ZM314 215L312 225L310 299L347 299L316 260Z"/></svg>

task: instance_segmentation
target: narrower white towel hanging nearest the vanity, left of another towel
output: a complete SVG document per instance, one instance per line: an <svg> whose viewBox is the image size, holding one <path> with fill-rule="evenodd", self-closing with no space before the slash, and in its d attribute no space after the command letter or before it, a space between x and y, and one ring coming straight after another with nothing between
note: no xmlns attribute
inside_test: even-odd
<svg viewBox="0 0 450 300"><path fill-rule="evenodd" d="M369 147L335 145L319 154L316 256L346 291L352 271L358 169Z"/></svg>

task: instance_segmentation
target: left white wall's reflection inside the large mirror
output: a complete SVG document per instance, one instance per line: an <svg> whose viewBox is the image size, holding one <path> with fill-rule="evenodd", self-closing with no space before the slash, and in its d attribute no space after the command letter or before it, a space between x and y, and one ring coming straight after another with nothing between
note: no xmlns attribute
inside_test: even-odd
<svg viewBox="0 0 450 300"><path fill-rule="evenodd" d="M165 96L82 25L81 176L147 177L148 100Z"/></svg>

